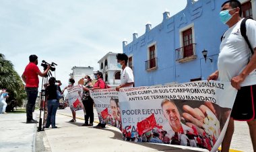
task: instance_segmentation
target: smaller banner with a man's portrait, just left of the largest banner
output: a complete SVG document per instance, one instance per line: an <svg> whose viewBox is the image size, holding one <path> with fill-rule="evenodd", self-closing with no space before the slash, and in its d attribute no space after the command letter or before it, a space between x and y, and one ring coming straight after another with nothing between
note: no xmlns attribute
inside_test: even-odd
<svg viewBox="0 0 256 152"><path fill-rule="evenodd" d="M100 122L121 130L121 112L117 94L115 89L100 89L91 92Z"/></svg>

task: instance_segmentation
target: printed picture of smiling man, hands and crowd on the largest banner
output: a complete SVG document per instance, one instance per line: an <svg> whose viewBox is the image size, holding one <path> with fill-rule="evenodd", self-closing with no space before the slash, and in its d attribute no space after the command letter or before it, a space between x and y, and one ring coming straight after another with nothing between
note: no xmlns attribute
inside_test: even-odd
<svg viewBox="0 0 256 152"><path fill-rule="evenodd" d="M153 103L158 103L159 108ZM231 110L212 102L195 100L164 99L152 103L137 102L136 105L123 104L129 107L127 110L121 107L125 141L183 145L209 151L220 137Z"/></svg>

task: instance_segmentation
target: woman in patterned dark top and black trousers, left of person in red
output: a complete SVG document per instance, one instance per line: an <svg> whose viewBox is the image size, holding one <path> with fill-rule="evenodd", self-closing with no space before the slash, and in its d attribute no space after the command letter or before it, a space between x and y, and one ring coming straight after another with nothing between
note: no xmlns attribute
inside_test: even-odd
<svg viewBox="0 0 256 152"><path fill-rule="evenodd" d="M82 95L82 102L84 104L84 124L82 126L93 126L94 122L94 100L90 97L90 89L92 88L92 79L86 75L84 77L84 85L82 86L84 91ZM88 120L90 118L90 123Z"/></svg>

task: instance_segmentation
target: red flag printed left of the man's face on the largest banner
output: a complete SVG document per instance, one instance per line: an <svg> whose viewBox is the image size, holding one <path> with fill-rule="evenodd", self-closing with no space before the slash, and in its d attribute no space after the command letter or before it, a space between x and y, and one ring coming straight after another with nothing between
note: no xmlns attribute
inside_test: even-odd
<svg viewBox="0 0 256 152"><path fill-rule="evenodd" d="M142 120L141 122L137 122L138 134L142 135L143 133L152 130L154 126L156 126L156 118L154 114L152 114L151 116Z"/></svg>

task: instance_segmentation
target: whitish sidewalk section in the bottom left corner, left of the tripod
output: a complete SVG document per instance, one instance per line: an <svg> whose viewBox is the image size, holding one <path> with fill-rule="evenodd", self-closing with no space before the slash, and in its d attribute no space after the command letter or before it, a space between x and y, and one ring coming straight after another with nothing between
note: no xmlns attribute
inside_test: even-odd
<svg viewBox="0 0 256 152"><path fill-rule="evenodd" d="M26 114L0 114L0 151L35 151L36 124Z"/></svg>

